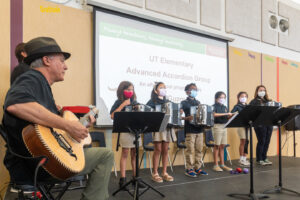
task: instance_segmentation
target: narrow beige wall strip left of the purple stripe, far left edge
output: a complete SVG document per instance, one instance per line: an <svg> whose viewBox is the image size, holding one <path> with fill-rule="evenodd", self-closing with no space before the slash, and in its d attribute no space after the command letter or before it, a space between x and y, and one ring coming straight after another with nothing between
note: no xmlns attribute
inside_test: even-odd
<svg viewBox="0 0 300 200"><path fill-rule="evenodd" d="M10 4L9 0L1 1L0 6L0 121L2 121L5 94L9 88L10 80ZM2 31L5 30L5 31ZM0 122L1 123L1 122ZM5 187L9 181L7 170L3 166L3 158L5 154L4 141L0 137L0 196L4 196Z"/></svg>

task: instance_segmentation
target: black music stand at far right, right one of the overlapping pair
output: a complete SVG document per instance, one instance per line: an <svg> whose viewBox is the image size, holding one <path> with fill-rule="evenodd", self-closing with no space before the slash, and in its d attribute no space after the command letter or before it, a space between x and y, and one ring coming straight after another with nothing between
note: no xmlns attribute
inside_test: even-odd
<svg viewBox="0 0 300 200"><path fill-rule="evenodd" d="M282 193L283 191L287 191L290 193L294 193L298 196L300 196L299 192L284 188L282 186L282 161L281 161L281 126L288 123L290 120L295 118L297 115L300 114L299 109L293 109L293 108L281 108L277 110L272 117L268 117L264 119L264 124L266 125L276 125L278 126L279 130L279 183L277 186L275 186L273 189L264 191L265 194L271 194L271 193ZM263 119L263 116L262 116Z"/></svg>

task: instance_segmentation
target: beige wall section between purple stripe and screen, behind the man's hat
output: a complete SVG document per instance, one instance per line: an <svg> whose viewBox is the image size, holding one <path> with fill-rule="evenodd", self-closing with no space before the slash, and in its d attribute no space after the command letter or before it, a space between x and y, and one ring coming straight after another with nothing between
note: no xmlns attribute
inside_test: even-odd
<svg viewBox="0 0 300 200"><path fill-rule="evenodd" d="M40 7L59 8L60 12L42 12ZM92 84L92 13L43 0L24 1L24 41L49 36L72 55L67 60L65 81L53 85L54 98L60 105L89 105L93 102Z"/></svg>

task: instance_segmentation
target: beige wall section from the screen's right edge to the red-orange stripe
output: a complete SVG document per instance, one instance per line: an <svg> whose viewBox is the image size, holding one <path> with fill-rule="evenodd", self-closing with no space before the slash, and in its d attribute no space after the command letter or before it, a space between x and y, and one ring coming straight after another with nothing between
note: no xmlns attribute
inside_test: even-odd
<svg viewBox="0 0 300 200"><path fill-rule="evenodd" d="M248 103L254 98L257 85L264 84L267 88L269 97L277 99L277 68L276 58L258 52L248 51L235 47L229 48L229 93L230 108L237 102L237 94L246 91L249 95ZM253 132L253 144L257 139ZM230 152L233 158L239 157L238 144L239 138L236 130L228 130L228 143L231 144ZM254 157L256 149L254 145ZM273 156L277 153L277 130L273 131L268 155Z"/></svg>

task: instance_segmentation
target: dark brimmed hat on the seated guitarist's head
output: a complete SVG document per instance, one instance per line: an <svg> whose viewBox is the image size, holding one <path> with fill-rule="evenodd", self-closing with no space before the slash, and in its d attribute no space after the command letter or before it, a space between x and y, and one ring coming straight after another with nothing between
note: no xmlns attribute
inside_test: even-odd
<svg viewBox="0 0 300 200"><path fill-rule="evenodd" d="M24 62L28 65L36 59L49 54L62 53L65 59L68 59L71 56L70 53L63 52L56 41L50 37L34 38L27 42L24 48L27 53L27 57L24 59Z"/></svg>

